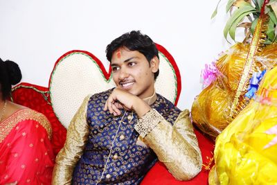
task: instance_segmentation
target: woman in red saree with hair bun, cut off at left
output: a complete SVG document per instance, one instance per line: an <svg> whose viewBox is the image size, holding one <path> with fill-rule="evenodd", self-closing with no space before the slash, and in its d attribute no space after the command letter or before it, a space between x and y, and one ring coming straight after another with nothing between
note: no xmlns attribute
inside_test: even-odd
<svg viewBox="0 0 277 185"><path fill-rule="evenodd" d="M51 184L50 123L43 114L7 100L11 85L20 80L18 65L0 59L0 184Z"/></svg>

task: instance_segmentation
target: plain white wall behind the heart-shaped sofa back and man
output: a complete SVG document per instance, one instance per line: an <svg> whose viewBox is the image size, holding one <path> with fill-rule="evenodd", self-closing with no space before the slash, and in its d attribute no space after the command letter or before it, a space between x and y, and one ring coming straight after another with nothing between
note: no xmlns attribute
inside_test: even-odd
<svg viewBox="0 0 277 185"><path fill-rule="evenodd" d="M67 51L89 51L107 67L107 44L141 30L175 58L182 80L178 107L190 109L204 64L231 46L223 36L226 1L211 20L217 0L0 0L0 58L19 64L22 82L48 87L53 65Z"/></svg>

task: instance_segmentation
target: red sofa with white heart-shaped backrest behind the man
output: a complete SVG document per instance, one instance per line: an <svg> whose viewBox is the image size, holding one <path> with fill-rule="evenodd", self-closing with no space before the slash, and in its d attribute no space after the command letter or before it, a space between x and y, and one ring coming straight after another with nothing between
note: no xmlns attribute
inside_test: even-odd
<svg viewBox="0 0 277 185"><path fill-rule="evenodd" d="M181 92L181 76L172 55L157 44L160 57L160 76L155 82L157 93L177 105ZM48 87L27 82L13 87L12 100L37 112L42 112L51 122L53 149L55 155L64 145L66 128L71 118L88 94L94 94L114 87L111 69L107 72L102 62L87 51L69 51L62 55L53 68ZM186 88L186 87L185 87ZM166 167L157 162L141 184L208 184L208 170L205 168L213 157L214 142L195 129L202 151L203 168L188 182L177 181Z"/></svg>

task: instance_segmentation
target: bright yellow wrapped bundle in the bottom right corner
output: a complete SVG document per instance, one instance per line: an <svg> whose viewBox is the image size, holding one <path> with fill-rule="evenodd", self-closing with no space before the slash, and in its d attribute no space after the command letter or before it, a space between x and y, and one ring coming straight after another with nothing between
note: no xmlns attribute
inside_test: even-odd
<svg viewBox="0 0 277 185"><path fill-rule="evenodd" d="M276 137L266 133L277 125L276 73L266 73L256 99L217 136L210 184L277 184L277 145L265 147Z"/></svg>

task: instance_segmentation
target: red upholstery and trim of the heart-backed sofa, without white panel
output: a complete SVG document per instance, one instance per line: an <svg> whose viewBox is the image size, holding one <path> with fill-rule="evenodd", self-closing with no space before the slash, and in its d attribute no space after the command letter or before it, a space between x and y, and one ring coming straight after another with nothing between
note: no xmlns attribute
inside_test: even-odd
<svg viewBox="0 0 277 185"><path fill-rule="evenodd" d="M166 55L166 58L168 58L168 60L172 64L172 68L175 71L175 74L177 77L177 97L175 101L175 105L176 105L181 92L181 76L179 74L179 69L177 67L177 64L175 63L175 60L172 58L170 53L166 51L166 49L164 49L159 44L157 44L157 48L159 49L159 51L161 51L161 53L163 53L163 55ZM74 51L71 51L69 53L62 55L62 57L57 60L56 64L62 61L63 58L66 58L66 56L72 52ZM100 65L100 69L104 73L105 69L104 67L102 67L102 64L100 64L101 63L100 60L94 57L94 55L92 55L91 53L88 53L85 51L82 51L82 52L90 55L91 58L93 58L93 60L96 61L98 66ZM110 71L109 73L105 71L104 74L105 74L105 78L108 79L110 75ZM25 105L26 107L30 107L31 109L35 109L37 112L41 112L48 118L53 129L53 139L52 139L53 149L54 149L55 155L57 155L57 152L59 152L60 149L64 146L64 141L66 139L66 129L60 123L57 116L55 116L55 113L53 112L49 94L50 92L48 87L40 87L37 85L30 85L28 83L21 83L12 89L12 99L15 101L15 103L18 103L20 105ZM203 136L198 130L195 130L195 133L199 141L200 150L202 151L203 163L208 164L209 159L212 157L211 151L213 151L213 141L206 139L206 137ZM197 175L197 177L195 177L194 179L188 182L179 182L175 180L175 178L172 177L170 173L168 173L168 170L166 169L165 166L163 166L163 164L158 162L149 171L145 179L143 179L142 184L207 184L208 183L207 179L208 179L208 172L202 169L202 172L199 173L199 175Z"/></svg>

